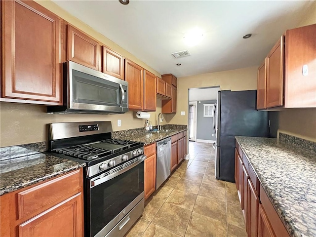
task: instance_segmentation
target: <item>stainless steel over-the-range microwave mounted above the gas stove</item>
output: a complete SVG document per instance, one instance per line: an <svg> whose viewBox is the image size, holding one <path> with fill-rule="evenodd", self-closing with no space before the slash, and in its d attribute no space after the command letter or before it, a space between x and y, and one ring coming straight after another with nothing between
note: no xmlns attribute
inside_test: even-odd
<svg viewBox="0 0 316 237"><path fill-rule="evenodd" d="M63 63L63 105L57 114L121 114L128 111L128 83L78 63Z"/></svg>

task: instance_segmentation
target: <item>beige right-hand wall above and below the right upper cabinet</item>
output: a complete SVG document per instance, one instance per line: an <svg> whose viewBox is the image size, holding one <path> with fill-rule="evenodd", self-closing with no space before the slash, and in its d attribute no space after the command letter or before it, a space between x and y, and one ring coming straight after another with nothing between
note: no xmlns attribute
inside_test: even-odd
<svg viewBox="0 0 316 237"><path fill-rule="evenodd" d="M297 27L316 23L316 1ZM287 109L279 112L278 132L316 142L316 108Z"/></svg>

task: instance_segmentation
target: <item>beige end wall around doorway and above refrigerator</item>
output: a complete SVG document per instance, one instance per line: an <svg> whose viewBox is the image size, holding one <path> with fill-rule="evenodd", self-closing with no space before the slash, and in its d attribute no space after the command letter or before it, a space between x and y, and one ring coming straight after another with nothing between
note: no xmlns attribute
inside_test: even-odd
<svg viewBox="0 0 316 237"><path fill-rule="evenodd" d="M189 88L220 86L221 90L257 89L257 67L178 78L177 114L165 115L168 123L188 124ZM181 116L185 111L185 116Z"/></svg>

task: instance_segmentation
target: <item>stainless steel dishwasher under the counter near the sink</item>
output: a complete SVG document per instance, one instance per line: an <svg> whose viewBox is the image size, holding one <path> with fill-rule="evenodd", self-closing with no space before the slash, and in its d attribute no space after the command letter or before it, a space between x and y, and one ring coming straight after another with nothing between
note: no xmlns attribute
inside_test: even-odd
<svg viewBox="0 0 316 237"><path fill-rule="evenodd" d="M171 166L171 138L157 142L156 189L169 177Z"/></svg>

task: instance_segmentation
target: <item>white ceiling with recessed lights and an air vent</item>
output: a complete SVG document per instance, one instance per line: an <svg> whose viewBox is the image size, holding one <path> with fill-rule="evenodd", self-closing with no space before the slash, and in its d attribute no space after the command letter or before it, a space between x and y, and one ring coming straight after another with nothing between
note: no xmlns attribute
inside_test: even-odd
<svg viewBox="0 0 316 237"><path fill-rule="evenodd" d="M295 28L312 1L54 0L160 74L191 76L258 66L286 29ZM201 28L196 46L183 40ZM252 37L243 40L248 33ZM175 59L172 52L189 49ZM181 66L176 66L181 63Z"/></svg>

